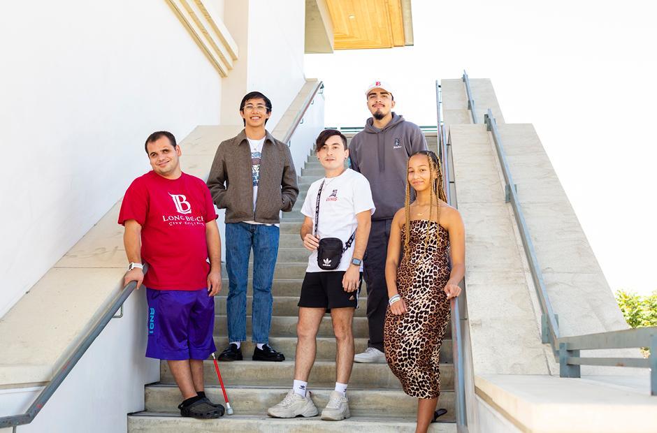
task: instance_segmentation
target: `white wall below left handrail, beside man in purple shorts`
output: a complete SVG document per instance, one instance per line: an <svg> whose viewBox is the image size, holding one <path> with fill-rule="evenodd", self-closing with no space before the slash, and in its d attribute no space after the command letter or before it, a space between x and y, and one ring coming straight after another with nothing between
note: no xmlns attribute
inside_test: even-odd
<svg viewBox="0 0 657 433"><path fill-rule="evenodd" d="M125 432L126 414L144 409L144 385L159 380L159 361L144 357L146 311L145 291L130 295L124 316L108 323L34 421L17 431ZM41 389L1 389L0 416L24 413Z"/></svg>

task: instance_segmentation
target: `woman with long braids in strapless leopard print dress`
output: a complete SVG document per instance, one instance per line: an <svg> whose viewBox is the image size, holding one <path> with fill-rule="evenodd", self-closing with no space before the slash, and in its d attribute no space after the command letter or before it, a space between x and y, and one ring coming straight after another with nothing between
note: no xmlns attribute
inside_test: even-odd
<svg viewBox="0 0 657 433"><path fill-rule="evenodd" d="M413 203L411 187L417 196ZM404 392L418 399L417 432L426 432L438 404L449 299L461 293L465 273L463 220L445 200L438 158L428 151L413 154L405 207L395 214L388 245L384 347Z"/></svg>

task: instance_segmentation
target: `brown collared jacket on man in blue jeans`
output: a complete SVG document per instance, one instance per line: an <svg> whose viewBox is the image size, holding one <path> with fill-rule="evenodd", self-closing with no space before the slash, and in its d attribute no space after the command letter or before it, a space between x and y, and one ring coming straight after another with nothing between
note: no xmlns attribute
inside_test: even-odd
<svg viewBox="0 0 657 433"><path fill-rule="evenodd" d="M208 176L212 200L226 208L226 223L279 223L280 211L291 211L299 194L289 147L266 132L255 210L251 172L251 147L242 130L217 148Z"/></svg>

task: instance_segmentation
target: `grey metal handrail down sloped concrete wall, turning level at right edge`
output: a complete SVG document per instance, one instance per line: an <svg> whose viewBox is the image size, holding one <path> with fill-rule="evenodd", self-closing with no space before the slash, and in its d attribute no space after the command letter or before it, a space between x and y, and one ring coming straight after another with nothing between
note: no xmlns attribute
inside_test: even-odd
<svg viewBox="0 0 657 433"><path fill-rule="evenodd" d="M542 341L549 343L552 350L558 355L559 376L580 377L581 365L598 365L605 367L638 367L649 368L650 394L657 395L657 326L647 328L634 328L600 332L597 334L574 335L561 337L558 325L558 316L554 314L547 288L543 281L541 267L536 258L536 252L525 221L522 207L518 198L516 185L513 183L511 170L504 153L500 131L493 112L489 109L484 115L486 129L491 131L493 142L498 154L500 166L505 179L505 196L507 203L511 203L521 240L524 246L529 269L534 281L534 287L542 310ZM582 358L581 350L614 349L649 347L649 359L642 358Z"/></svg>

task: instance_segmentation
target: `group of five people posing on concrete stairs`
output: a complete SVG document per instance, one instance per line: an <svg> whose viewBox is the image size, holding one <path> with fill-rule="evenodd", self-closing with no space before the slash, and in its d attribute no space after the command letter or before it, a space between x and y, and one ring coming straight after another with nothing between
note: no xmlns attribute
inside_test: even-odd
<svg viewBox="0 0 657 433"><path fill-rule="evenodd" d="M403 390L419 399L417 431L424 432L440 395L449 299L459 295L465 272L463 222L445 203L440 161L426 149L419 127L392 111L391 87L373 82L365 94L372 117L350 145L331 129L315 143L325 176L310 185L301 208L301 242L311 253L298 302L294 383L268 414L319 413L308 378L319 325L330 312L336 383L322 419L349 418L354 361L388 362ZM245 95L245 129L219 145L207 186L182 173L182 151L171 133L153 133L145 143L153 170L133 181L122 203L119 223L130 262L124 282L147 287L147 356L167 360L184 399L182 416L224 413L203 388L203 360L216 350L212 297L222 288L215 205L226 209L229 277L229 344L219 360L243 360L251 251L252 359L285 359L268 341L271 288L280 212L292 210L299 189L289 148L266 131L271 110L260 92ZM142 263L149 265L146 274ZM352 321L363 277L369 340L366 351L354 355Z"/></svg>

